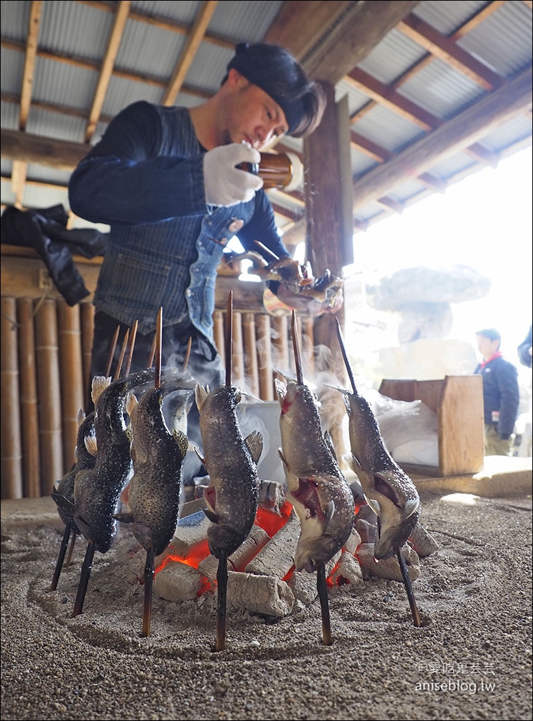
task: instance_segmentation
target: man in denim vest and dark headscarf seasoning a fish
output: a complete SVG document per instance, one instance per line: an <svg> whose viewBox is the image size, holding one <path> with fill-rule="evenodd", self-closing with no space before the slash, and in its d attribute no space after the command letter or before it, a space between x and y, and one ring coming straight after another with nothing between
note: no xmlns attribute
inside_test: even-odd
<svg viewBox="0 0 533 721"><path fill-rule="evenodd" d="M197 107L136 102L122 110L71 176L73 212L110 226L94 293L91 378L104 372L117 325L121 340L135 321L131 370L145 368L162 307L162 363L179 366L191 339L187 368L219 385L212 314L224 245L236 235L245 249L257 252L257 240L290 255L262 180L236 166L259 163L274 138L311 133L325 95L277 45L238 45L226 70L218 92ZM274 290L289 306L331 310L282 283Z"/></svg>

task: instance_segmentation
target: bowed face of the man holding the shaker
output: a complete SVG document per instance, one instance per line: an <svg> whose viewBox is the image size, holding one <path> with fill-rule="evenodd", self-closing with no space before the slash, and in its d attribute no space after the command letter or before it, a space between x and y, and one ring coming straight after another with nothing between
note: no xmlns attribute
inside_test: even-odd
<svg viewBox="0 0 533 721"><path fill-rule="evenodd" d="M228 83L225 112L220 118L222 144L244 141L261 150L287 132L285 113L264 90L233 69Z"/></svg>

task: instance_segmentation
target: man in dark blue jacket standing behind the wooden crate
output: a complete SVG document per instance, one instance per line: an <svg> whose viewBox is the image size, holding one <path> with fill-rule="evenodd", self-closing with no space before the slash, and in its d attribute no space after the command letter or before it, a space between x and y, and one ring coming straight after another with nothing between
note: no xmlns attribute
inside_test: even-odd
<svg viewBox="0 0 533 721"><path fill-rule="evenodd" d="M495 328L478 330L475 337L483 357L475 373L483 376L485 456L509 456L520 401L518 371L501 355Z"/></svg>

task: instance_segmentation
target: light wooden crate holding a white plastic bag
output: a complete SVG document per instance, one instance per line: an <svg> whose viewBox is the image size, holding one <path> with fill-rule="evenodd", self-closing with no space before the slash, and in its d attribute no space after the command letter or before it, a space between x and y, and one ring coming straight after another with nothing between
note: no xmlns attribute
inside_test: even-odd
<svg viewBox="0 0 533 721"><path fill-rule="evenodd" d="M445 477L483 469L482 384L479 375L445 376L436 381L382 381L382 395L399 401L421 400L436 412L439 465L402 464L406 472Z"/></svg>

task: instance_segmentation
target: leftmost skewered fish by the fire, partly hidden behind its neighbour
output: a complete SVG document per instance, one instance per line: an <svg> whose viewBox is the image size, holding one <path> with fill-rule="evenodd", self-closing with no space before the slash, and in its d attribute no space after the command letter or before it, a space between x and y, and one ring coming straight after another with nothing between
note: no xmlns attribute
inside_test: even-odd
<svg viewBox="0 0 533 721"><path fill-rule="evenodd" d="M115 330L115 335L111 343L109 355L107 358L107 369L106 376L109 375L109 369L111 368L113 355L117 346L118 335L120 332L120 325ZM103 386L99 386L99 391L103 390ZM97 389L94 389L92 393L92 402L97 402L97 396L95 393ZM61 521L65 524L65 531L63 533L63 539L61 541L61 547L58 554L58 560L55 564L55 571L50 585L50 590L55 590L58 587L59 577L61 575L61 569L66 555L66 549L68 546L68 539L72 536L71 547L68 552L68 559L64 565L68 566L71 562L72 552L76 537L79 536L79 528L76 526L73 518L74 511L74 482L76 475L84 469L94 468L97 462L97 442L94 430L94 410L85 415L85 412L80 409L78 414L78 433L76 434L76 448L74 448L74 464L68 473L66 473L61 481L58 483L58 487L55 488L50 494L58 506L58 513Z"/></svg>

